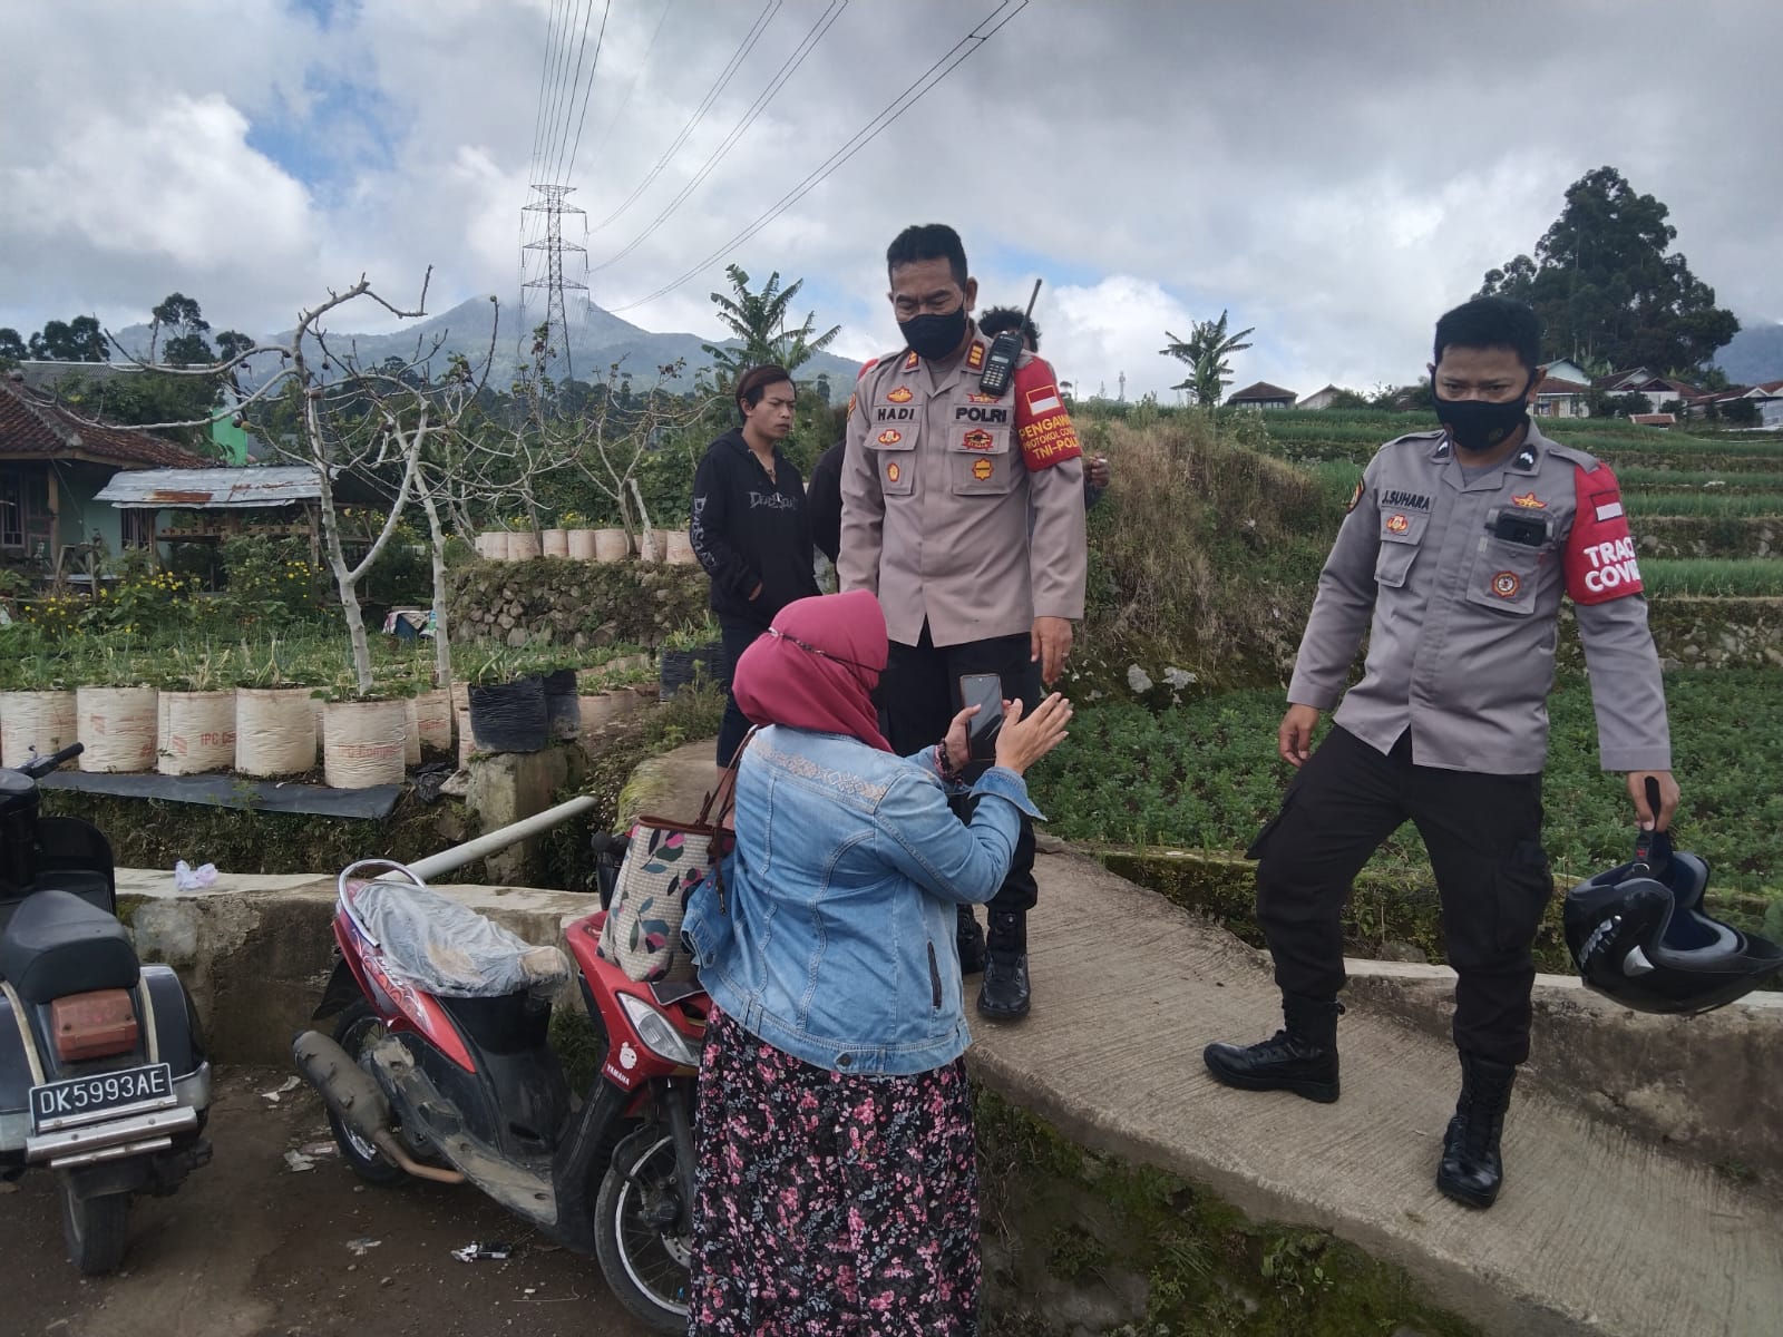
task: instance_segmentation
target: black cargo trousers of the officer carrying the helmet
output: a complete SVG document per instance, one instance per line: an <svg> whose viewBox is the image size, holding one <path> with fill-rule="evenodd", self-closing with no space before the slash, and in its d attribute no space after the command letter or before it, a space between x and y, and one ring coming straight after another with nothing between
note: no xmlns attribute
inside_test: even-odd
<svg viewBox="0 0 1783 1337"><path fill-rule="evenodd" d="M1282 993L1344 986L1343 906L1375 849L1410 820L1425 838L1455 968L1455 1046L1496 1062L1530 1055L1530 948L1553 879L1542 856L1542 777L1412 763L1405 733L1382 756L1334 727L1250 847L1257 920Z"/></svg>

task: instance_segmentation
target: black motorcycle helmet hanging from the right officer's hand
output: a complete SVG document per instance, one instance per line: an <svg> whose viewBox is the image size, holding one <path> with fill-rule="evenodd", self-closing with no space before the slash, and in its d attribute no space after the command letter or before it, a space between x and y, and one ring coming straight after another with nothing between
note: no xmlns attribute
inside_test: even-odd
<svg viewBox="0 0 1783 1337"><path fill-rule="evenodd" d="M1703 911L1708 863L1642 834L1635 857L1574 886L1565 945L1585 984L1637 1013L1708 1013L1783 966L1783 948Z"/></svg>

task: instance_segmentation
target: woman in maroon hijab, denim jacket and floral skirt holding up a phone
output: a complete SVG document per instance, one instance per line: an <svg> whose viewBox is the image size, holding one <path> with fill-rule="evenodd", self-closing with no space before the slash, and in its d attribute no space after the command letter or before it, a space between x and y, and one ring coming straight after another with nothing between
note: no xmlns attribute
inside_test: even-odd
<svg viewBox="0 0 1783 1337"><path fill-rule="evenodd" d="M872 704L884 663L884 615L858 590L788 604L736 665L760 726L736 854L722 904L703 886L683 927L717 1004L695 1116L699 1337L979 1330L956 907L1002 884L1020 815L1039 816L1022 774L1072 708L1006 704L963 824L947 800L972 711L893 756Z"/></svg>

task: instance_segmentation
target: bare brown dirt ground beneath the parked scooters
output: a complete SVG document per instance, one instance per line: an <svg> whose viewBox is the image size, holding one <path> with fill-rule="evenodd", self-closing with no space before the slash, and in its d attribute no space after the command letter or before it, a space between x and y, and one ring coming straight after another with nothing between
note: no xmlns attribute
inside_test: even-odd
<svg viewBox="0 0 1783 1337"><path fill-rule="evenodd" d="M66 1260L55 1182L0 1185L0 1332L18 1337L645 1337L594 1259L553 1246L471 1187L364 1185L332 1153L321 1100L287 1073L218 1073L216 1159L130 1209L116 1276ZM321 1144L330 1152L321 1153ZM316 1152L294 1171L287 1152ZM471 1241L506 1262L458 1262Z"/></svg>

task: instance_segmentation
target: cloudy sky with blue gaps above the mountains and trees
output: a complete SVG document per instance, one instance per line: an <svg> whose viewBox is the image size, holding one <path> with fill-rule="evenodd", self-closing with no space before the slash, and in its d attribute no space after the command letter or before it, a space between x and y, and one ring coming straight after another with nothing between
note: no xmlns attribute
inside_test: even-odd
<svg viewBox="0 0 1783 1337"><path fill-rule="evenodd" d="M175 289L214 326L262 333L362 271L405 298L428 264L430 310L492 292L512 312L535 273L528 184L560 180L588 210L567 226L588 260L571 276L649 330L717 333L706 294L735 260L802 276L836 351L874 355L897 335L886 242L950 221L982 301L1045 276L1043 351L1080 392L1114 394L1125 373L1129 398L1168 396L1182 373L1157 355L1164 332L1221 308L1257 330L1236 385L1371 389L1416 376L1435 314L1528 251L1603 164L1671 205L1722 305L1783 319L1774 0L5 11L0 326L25 333L84 312L130 324Z"/></svg>

